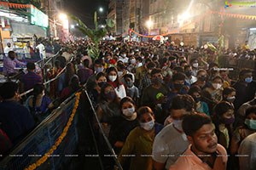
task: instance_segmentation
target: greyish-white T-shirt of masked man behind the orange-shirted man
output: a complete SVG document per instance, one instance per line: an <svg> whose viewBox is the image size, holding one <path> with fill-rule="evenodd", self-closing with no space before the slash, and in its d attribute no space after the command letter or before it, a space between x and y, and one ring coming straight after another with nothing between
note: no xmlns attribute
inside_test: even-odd
<svg viewBox="0 0 256 170"><path fill-rule="evenodd" d="M169 124L154 139L153 159L166 163L166 169L169 169L188 147L189 141L185 133L177 132L173 125Z"/></svg>

